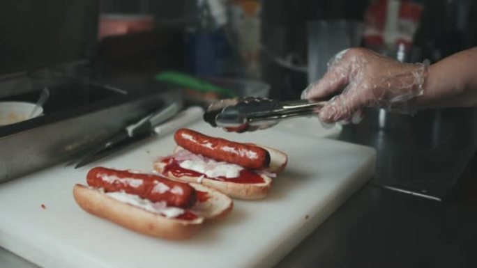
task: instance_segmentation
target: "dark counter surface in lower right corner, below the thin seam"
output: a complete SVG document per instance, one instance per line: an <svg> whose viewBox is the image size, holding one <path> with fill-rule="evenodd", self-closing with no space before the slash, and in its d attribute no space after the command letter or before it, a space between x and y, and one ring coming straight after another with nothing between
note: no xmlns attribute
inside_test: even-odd
<svg viewBox="0 0 477 268"><path fill-rule="evenodd" d="M367 185L277 267L476 267L477 211Z"/></svg>

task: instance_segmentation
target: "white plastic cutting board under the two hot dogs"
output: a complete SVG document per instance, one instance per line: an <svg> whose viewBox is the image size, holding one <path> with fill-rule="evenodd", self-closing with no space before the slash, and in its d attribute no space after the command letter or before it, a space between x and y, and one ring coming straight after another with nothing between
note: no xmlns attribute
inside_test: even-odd
<svg viewBox="0 0 477 268"><path fill-rule="evenodd" d="M265 200L236 201L225 221L170 242L139 235L87 214L72 189L92 166L56 166L0 184L0 246L42 267L269 267L319 226L374 172L371 148L269 129L205 134L270 145L289 155ZM174 148L172 134L95 165L151 171ZM45 205L45 209L41 205Z"/></svg>

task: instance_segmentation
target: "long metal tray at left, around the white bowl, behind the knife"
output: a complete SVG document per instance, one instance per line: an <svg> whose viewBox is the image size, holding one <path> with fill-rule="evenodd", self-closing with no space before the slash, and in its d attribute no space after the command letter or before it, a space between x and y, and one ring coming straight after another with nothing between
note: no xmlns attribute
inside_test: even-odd
<svg viewBox="0 0 477 268"><path fill-rule="evenodd" d="M0 182L59 164L88 145L182 96L165 86L121 93L112 87L73 82L53 86L44 116L0 127ZM129 90L130 89L130 90ZM35 102L38 92L2 100Z"/></svg>

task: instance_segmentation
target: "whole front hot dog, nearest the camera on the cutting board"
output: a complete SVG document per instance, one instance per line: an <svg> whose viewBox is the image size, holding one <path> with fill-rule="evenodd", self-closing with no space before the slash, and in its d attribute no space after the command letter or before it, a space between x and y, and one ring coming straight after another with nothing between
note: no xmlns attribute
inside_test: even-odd
<svg viewBox="0 0 477 268"><path fill-rule="evenodd" d="M86 181L87 187L76 184L73 188L83 210L164 239L187 239L204 222L227 216L233 207L229 197L209 187L158 175L98 167L89 171Z"/></svg>

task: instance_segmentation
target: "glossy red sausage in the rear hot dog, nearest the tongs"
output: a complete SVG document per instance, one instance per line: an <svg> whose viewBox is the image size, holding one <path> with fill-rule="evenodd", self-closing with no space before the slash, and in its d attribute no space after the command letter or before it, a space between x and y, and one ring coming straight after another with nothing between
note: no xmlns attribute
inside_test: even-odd
<svg viewBox="0 0 477 268"><path fill-rule="evenodd" d="M244 168L263 169L270 165L270 154L264 148L226 139L206 136L190 129L179 129L174 140L185 150Z"/></svg>

